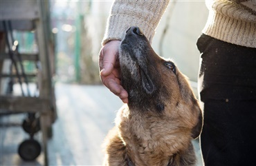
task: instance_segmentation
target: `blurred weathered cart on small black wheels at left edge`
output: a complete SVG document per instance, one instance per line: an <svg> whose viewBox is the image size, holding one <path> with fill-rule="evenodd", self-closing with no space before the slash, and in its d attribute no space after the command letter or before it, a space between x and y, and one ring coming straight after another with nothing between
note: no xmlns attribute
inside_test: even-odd
<svg viewBox="0 0 256 166"><path fill-rule="evenodd" d="M52 136L52 125L57 117L55 93L52 81L54 73L54 51L49 30L48 1L1 1L1 96L0 114L26 113L22 127L30 138L19 145L18 153L24 160L35 160L41 149L44 162L48 165L47 140ZM19 53L19 41L13 37L14 30L35 32L38 52ZM3 70L10 62L9 72ZM26 74L24 61L35 63L37 72ZM32 79L33 78L33 79ZM3 79L8 81L4 82ZM37 85L37 95L32 95L28 84ZM6 84L4 88L3 84ZM21 87L21 96L12 94L13 85ZM25 87L25 88L24 88ZM42 131L42 144L34 139L34 134ZM42 145L42 147L41 147Z"/></svg>

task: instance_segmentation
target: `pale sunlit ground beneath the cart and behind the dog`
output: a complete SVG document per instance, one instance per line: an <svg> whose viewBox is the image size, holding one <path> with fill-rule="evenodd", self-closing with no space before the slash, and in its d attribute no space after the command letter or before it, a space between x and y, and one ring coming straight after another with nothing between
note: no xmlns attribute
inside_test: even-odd
<svg viewBox="0 0 256 166"><path fill-rule="evenodd" d="M120 99L101 85L55 86L57 121L53 124L53 138L48 141L49 165L101 165L102 143L122 105ZM0 118L0 165L44 165L44 153L35 162L24 162L17 154L19 144L28 138L20 124L25 114ZM41 134L35 136L41 142ZM201 166L198 141L194 141Z"/></svg>

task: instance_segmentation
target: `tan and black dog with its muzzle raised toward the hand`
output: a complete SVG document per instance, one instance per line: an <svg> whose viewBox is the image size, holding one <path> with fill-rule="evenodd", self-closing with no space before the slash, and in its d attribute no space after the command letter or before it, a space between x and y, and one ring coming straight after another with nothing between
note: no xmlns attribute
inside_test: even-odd
<svg viewBox="0 0 256 166"><path fill-rule="evenodd" d="M188 79L138 27L127 30L119 61L129 103L105 138L104 165L195 165L192 139L201 134L203 116Z"/></svg>

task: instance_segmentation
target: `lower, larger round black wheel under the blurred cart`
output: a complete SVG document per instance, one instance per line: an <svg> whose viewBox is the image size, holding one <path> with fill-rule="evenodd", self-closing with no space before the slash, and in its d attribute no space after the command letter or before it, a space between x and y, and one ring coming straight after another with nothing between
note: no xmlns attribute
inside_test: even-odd
<svg viewBox="0 0 256 166"><path fill-rule="evenodd" d="M41 153L41 145L33 139L25 140L19 145L18 153L23 160L35 160Z"/></svg>

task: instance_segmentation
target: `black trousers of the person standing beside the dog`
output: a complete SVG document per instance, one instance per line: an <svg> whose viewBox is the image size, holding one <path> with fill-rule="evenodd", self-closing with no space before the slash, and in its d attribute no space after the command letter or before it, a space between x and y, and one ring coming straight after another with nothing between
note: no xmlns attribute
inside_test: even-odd
<svg viewBox="0 0 256 166"><path fill-rule="evenodd" d="M205 34L196 44L205 166L256 165L256 49Z"/></svg>

